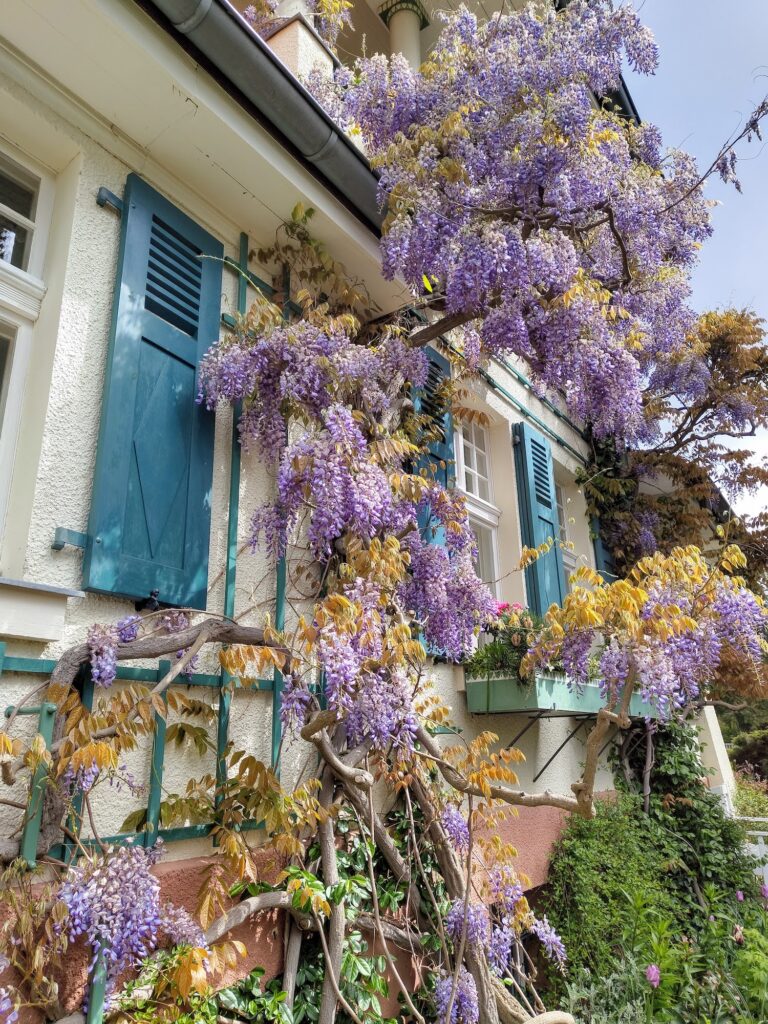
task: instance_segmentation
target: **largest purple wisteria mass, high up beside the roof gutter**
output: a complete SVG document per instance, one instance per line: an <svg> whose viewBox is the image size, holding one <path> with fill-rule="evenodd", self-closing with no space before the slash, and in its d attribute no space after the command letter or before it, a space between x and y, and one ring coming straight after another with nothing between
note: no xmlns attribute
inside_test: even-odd
<svg viewBox="0 0 768 1024"><path fill-rule="evenodd" d="M470 362L520 356L597 435L636 439L645 382L693 325L711 204L690 156L595 105L625 58L641 74L657 61L627 4L530 4L486 24L460 7L419 71L361 58L321 99L380 172L385 273L419 295L434 283Z"/></svg>

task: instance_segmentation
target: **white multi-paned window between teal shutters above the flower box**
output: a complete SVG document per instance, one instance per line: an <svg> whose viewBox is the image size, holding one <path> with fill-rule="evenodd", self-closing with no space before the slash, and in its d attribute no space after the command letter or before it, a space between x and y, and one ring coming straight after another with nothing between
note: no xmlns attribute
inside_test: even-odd
<svg viewBox="0 0 768 1024"><path fill-rule="evenodd" d="M457 430L456 474L477 546L477 574L498 596L500 512L493 504L488 432L484 427L471 423Z"/></svg>

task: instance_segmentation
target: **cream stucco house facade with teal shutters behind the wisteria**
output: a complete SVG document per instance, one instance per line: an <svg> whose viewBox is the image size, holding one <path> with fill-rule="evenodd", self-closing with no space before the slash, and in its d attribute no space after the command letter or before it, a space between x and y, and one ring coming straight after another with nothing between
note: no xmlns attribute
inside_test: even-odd
<svg viewBox="0 0 768 1024"><path fill-rule="evenodd" d="M436 31L431 12L418 0L384 7L355 6L355 32L339 42L344 58L364 36L369 52L399 50L415 61L425 52ZM248 546L251 514L273 480L253 453L241 453L231 410L209 413L196 397L206 349L256 290L275 287L272 268L254 254L296 203L316 211L314 233L355 268L381 308L408 299L380 273L380 212L365 157L299 81L315 61L328 69L336 58L306 10L281 13L285 22L265 41L227 0L3 5L4 708L29 699L91 624L133 612L154 591L163 602L245 624L260 625L265 612L280 618L274 566ZM434 361L450 372L439 346ZM444 454L467 498L479 573L500 601L544 611L562 599L579 564L603 567L575 483L587 457L583 432L537 396L522 365L494 362L469 402L483 417L449 434ZM565 543L526 578L518 570L523 545L548 537ZM162 667L135 672L121 685L157 679ZM526 705L497 700L488 685L473 692L460 666L435 665L434 679L465 735L492 729L501 743L519 745L523 788L568 791L591 710L569 702L564 684ZM218 716L219 743L228 736L268 763L280 749L279 686L239 689L224 707L221 682L215 658L191 680ZM43 729L35 715L17 724L29 734ZM727 790L714 715L702 725L713 784ZM142 841L164 836L168 886L191 907L210 839L199 824L165 827L159 804L205 771L206 758L212 770L216 756L164 749L157 737L155 746L128 759L144 796L100 800L96 826L125 837L133 815L133 831L150 829ZM306 771L290 743L282 765L293 777ZM8 799L26 801L28 782ZM598 788L611 787L604 765ZM18 842L19 813L0 807L0 823ZM552 809L509 819L534 886L546 877L561 825ZM90 835L85 824L84 839ZM265 929L249 964L279 969L282 945L270 935Z"/></svg>

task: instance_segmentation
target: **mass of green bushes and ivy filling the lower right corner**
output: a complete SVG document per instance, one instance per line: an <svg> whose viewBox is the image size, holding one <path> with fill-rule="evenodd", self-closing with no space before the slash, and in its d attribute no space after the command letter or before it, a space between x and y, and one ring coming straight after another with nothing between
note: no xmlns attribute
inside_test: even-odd
<svg viewBox="0 0 768 1024"><path fill-rule="evenodd" d="M580 1024L766 1024L768 895L743 831L688 726L658 728L644 814L640 728L624 795L571 819L555 849L544 902L569 966L552 987Z"/></svg>

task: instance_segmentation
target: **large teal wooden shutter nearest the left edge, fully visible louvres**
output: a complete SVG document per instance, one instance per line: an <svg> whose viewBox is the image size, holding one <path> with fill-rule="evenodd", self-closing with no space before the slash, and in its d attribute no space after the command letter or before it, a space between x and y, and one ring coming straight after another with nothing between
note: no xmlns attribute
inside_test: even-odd
<svg viewBox="0 0 768 1024"><path fill-rule="evenodd" d="M213 415L198 368L218 337L221 243L130 174L84 586L204 608Z"/></svg>

